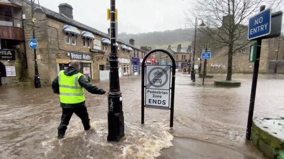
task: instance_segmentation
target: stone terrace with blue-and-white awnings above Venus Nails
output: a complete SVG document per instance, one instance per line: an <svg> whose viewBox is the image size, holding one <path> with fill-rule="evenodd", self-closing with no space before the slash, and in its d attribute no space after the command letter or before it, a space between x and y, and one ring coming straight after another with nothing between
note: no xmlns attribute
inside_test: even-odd
<svg viewBox="0 0 284 159"><path fill-rule="evenodd" d="M11 3L12 1L7 0L7 2ZM13 2L20 4L23 13L19 11L19 16L22 17L23 14L25 17L23 20L24 35L18 40L26 42L26 65L28 68L26 75L32 79L35 58L33 50L28 48L27 43L32 38L31 4L27 0ZM33 16L37 19L34 27L35 39L39 43L36 58L42 85L50 85L59 71L66 68L71 60L81 62L80 72L86 78L108 79L111 52L110 35L74 20L72 6L60 4L58 7L59 13L36 4L34 6ZM23 32L21 33L23 34ZM130 39L129 42L117 40L116 43L120 77L137 75L140 70L140 59L146 52L134 46L134 39ZM25 62L24 60L19 61Z"/></svg>

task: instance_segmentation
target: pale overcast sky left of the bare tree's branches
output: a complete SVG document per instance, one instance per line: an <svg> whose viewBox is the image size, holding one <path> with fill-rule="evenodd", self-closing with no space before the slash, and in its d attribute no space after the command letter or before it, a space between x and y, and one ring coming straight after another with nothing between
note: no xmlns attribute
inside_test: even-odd
<svg viewBox="0 0 284 159"><path fill-rule="evenodd" d="M58 5L73 7L76 21L107 33L110 0L39 0L40 5L59 12ZM143 33L185 28L186 15L195 0L117 0L119 33Z"/></svg>

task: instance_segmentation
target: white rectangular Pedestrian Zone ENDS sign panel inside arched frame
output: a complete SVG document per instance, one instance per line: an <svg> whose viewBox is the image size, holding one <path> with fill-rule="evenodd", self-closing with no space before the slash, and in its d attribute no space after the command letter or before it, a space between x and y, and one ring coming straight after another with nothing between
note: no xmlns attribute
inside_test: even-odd
<svg viewBox="0 0 284 159"><path fill-rule="evenodd" d="M169 108L170 65L148 65L146 67L145 106Z"/></svg>

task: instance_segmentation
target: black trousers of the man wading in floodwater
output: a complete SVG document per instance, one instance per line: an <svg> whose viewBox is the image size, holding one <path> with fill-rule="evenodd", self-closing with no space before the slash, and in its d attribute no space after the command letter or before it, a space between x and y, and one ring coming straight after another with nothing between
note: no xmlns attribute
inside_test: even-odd
<svg viewBox="0 0 284 159"><path fill-rule="evenodd" d="M80 103L76 108L62 108L61 123L58 126L58 135L64 135L69 121L75 113L81 120L85 130L90 129L90 119L85 103Z"/></svg>

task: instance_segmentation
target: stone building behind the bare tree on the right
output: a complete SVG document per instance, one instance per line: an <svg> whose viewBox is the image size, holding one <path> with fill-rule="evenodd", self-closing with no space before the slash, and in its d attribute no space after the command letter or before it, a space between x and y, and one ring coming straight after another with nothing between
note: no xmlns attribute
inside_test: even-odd
<svg viewBox="0 0 284 159"><path fill-rule="evenodd" d="M227 17L223 17L226 18ZM247 26L238 25L240 30L246 30ZM240 34L240 38L236 40L235 45L240 43L244 43L244 41L248 42L241 49L237 49L237 46L234 45L235 53L233 54L233 62L232 62L232 72L233 73L253 73L254 63L248 62L250 56L250 48L251 45L256 41L248 41L247 40L247 32L244 31ZM279 38L270 38L262 40L261 47L261 56L260 56L260 65L259 72L260 73L273 73L275 70L276 56L278 52L278 65L277 72L283 72L284 67L284 59L283 59L283 47L284 40L278 40ZM280 38L282 39L282 38ZM211 73L227 73L228 67L228 46L218 46L214 45L213 41L209 36L204 35L204 32L197 33L196 39L196 52L195 52L195 63L201 64L201 52L202 48L210 48L211 59L207 60L206 71ZM278 49L279 42L279 49ZM278 51L277 51L278 50ZM204 66L204 61L202 60L202 69Z"/></svg>

